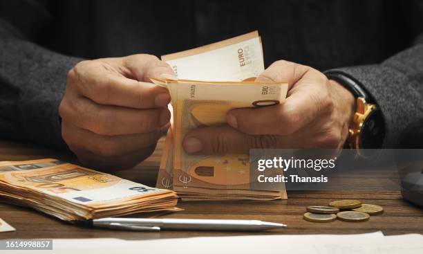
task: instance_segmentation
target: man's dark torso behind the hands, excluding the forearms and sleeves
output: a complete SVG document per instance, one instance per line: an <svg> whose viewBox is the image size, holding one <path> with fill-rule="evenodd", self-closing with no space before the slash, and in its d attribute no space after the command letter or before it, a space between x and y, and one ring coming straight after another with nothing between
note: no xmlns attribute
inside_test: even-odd
<svg viewBox="0 0 423 254"><path fill-rule="evenodd" d="M19 2L1 1L0 16L41 45L86 58L160 56L259 30L266 66L284 59L324 70L381 62L423 26L414 0Z"/></svg>

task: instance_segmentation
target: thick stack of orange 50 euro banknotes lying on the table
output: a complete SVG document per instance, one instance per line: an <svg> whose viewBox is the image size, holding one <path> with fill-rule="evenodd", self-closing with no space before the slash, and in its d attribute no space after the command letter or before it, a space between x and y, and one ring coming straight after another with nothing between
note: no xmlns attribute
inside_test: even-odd
<svg viewBox="0 0 423 254"><path fill-rule="evenodd" d="M53 158L0 162L0 198L65 221L178 210L171 190Z"/></svg>

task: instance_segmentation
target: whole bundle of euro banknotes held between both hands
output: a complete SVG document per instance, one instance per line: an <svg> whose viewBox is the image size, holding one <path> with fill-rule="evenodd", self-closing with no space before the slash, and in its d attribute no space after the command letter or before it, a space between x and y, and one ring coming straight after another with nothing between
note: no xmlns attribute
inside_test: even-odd
<svg viewBox="0 0 423 254"><path fill-rule="evenodd" d="M152 81L171 94L171 129L166 137L156 187L175 190L182 200L286 199L283 183L257 185L249 154L187 154L189 131L225 125L230 109L282 103L286 82L254 82L264 71L258 32L189 51L162 56L177 80Z"/></svg>

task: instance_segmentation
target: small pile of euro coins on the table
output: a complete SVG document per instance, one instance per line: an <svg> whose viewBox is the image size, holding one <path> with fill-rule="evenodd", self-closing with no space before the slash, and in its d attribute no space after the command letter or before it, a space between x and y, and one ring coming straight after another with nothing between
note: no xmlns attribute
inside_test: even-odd
<svg viewBox="0 0 423 254"><path fill-rule="evenodd" d="M356 199L333 201L329 206L308 206L304 214L306 221L330 222L341 221L368 221L370 215L380 215L384 212L382 206L361 203Z"/></svg>

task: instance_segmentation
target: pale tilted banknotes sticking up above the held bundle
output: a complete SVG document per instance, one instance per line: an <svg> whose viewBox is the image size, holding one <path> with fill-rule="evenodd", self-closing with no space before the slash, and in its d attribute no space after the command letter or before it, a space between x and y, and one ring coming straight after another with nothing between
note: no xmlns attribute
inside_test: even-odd
<svg viewBox="0 0 423 254"><path fill-rule="evenodd" d="M178 79L207 81L254 80L264 71L263 48L257 31L187 51L162 55ZM167 83L172 105L178 84Z"/></svg>

